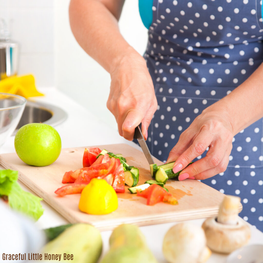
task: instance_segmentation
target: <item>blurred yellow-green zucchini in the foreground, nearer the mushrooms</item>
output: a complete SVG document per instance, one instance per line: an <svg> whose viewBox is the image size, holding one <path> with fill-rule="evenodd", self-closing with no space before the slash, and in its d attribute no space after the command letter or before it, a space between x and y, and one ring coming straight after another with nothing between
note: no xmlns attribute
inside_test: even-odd
<svg viewBox="0 0 263 263"><path fill-rule="evenodd" d="M157 263L139 227L123 224L110 236L110 250L100 263Z"/></svg>

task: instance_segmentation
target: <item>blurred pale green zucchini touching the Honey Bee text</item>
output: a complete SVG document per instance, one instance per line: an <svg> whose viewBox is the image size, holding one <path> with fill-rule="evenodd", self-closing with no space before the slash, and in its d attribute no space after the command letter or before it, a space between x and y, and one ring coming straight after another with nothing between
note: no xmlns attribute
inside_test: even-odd
<svg viewBox="0 0 263 263"><path fill-rule="evenodd" d="M44 254L61 255L62 262L96 263L102 252L102 238L98 229L89 224L74 224L42 249ZM73 255L65 259L64 254Z"/></svg>

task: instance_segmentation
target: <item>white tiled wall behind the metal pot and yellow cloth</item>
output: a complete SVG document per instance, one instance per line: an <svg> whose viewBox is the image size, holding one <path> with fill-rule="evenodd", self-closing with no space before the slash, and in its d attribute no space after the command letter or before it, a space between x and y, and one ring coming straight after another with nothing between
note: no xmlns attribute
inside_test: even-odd
<svg viewBox="0 0 263 263"><path fill-rule="evenodd" d="M18 74L32 73L37 87L54 86L54 0L0 0L0 18L19 43Z"/></svg>

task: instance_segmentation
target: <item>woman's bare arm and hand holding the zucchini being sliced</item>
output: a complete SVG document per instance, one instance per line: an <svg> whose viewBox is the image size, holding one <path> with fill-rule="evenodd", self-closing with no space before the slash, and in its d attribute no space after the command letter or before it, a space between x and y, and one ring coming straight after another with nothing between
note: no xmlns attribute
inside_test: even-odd
<svg viewBox="0 0 263 263"><path fill-rule="evenodd" d="M174 172L185 168L207 147L206 156L186 167L179 180L206 179L226 170L232 138L263 117L263 63L239 87L206 108L180 136L167 162Z"/></svg>

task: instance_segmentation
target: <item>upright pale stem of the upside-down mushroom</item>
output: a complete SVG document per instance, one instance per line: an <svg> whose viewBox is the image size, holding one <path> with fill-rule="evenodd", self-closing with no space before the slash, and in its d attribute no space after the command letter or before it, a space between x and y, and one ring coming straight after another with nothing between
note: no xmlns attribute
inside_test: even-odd
<svg viewBox="0 0 263 263"><path fill-rule="evenodd" d="M236 225L240 197L226 195L219 207L217 221L221 224Z"/></svg>

